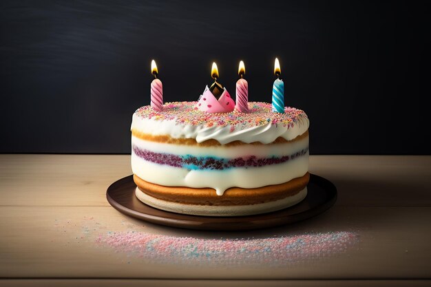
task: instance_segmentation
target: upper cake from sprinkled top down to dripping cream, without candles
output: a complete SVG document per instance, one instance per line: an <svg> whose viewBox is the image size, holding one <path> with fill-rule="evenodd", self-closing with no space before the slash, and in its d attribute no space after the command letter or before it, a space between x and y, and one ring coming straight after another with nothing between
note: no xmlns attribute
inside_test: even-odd
<svg viewBox="0 0 431 287"><path fill-rule="evenodd" d="M249 103L249 113L206 114L196 102L138 109L132 121L132 170L167 187L253 189L308 172L308 117Z"/></svg>

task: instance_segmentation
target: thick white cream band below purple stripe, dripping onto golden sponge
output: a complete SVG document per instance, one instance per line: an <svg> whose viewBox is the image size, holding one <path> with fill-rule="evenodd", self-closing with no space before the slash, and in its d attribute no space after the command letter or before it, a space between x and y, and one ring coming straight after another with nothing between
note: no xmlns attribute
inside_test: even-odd
<svg viewBox="0 0 431 287"><path fill-rule="evenodd" d="M308 151L303 156L281 164L265 167L231 168L225 170L189 170L169 167L139 158L132 152L132 171L147 182L167 187L210 187L218 195L230 187L253 189L272 184L282 184L304 176L308 171Z"/></svg>

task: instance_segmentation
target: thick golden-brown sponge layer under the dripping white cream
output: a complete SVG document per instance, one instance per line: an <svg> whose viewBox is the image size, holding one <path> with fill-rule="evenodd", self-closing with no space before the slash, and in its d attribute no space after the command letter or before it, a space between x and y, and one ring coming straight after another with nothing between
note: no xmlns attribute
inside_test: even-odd
<svg viewBox="0 0 431 287"><path fill-rule="evenodd" d="M308 184L309 173L300 178L294 178L282 184L269 185L257 189L242 189L231 187L224 192L223 196L215 195L213 189L191 189L189 187L165 187L158 184L146 182L134 175L134 182L138 188L159 200L167 200L182 204L201 204L213 206L226 205L249 205L260 204L280 200L288 196L293 196Z"/></svg>

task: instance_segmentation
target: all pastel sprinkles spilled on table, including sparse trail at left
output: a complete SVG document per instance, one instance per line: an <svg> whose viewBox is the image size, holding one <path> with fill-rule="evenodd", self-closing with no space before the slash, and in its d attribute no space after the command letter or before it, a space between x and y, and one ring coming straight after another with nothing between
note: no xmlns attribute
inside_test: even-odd
<svg viewBox="0 0 431 287"><path fill-rule="evenodd" d="M60 222L54 226L67 244L91 244L131 262L189 266L273 266L316 262L346 253L357 246L353 231L326 231L272 237L199 238L152 234L135 220L122 220L116 230L94 217ZM71 233L72 226L81 226ZM80 230L80 231L79 231ZM208 235L208 234L207 234ZM52 240L54 242L54 239ZM357 248L357 247L356 247ZM194 268L194 267L193 267Z"/></svg>

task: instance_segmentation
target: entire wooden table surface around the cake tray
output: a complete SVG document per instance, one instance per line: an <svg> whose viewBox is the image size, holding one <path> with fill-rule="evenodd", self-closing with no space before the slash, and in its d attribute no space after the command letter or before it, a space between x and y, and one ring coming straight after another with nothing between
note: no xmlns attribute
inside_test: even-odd
<svg viewBox="0 0 431 287"><path fill-rule="evenodd" d="M230 233L158 226L116 211L105 193L132 174L129 162L0 155L0 285L431 286L431 156L311 156L311 173L337 187L331 209ZM159 245L140 248L137 238ZM277 251L268 243L283 240L291 243ZM212 246L211 255L187 253L193 244Z"/></svg>

